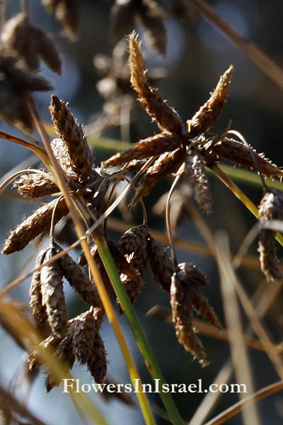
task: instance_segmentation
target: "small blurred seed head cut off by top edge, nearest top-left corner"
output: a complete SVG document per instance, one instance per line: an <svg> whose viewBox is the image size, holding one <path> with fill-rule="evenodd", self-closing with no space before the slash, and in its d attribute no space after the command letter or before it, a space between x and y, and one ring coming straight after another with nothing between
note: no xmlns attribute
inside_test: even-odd
<svg viewBox="0 0 283 425"><path fill-rule="evenodd" d="M48 12L54 13L62 23L64 33L71 39L76 39L79 29L79 0L41 0Z"/></svg>

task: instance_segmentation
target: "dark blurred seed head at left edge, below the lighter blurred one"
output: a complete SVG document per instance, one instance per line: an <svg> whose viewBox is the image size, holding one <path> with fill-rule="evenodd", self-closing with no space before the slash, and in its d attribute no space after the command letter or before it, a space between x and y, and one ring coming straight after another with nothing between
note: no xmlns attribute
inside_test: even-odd
<svg viewBox="0 0 283 425"><path fill-rule="evenodd" d="M13 123L33 129L33 119L27 100L33 91L49 91L49 82L31 72L23 60L12 52L0 55L0 108L1 114Z"/></svg>

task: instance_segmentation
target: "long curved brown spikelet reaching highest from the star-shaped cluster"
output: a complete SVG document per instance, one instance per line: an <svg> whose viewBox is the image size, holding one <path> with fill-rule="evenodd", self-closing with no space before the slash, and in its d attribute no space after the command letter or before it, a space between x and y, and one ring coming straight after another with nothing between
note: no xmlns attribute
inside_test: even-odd
<svg viewBox="0 0 283 425"><path fill-rule="evenodd" d="M131 83L139 96L139 101L149 116L156 121L161 131L182 133L183 123L173 108L170 108L157 89L154 89L146 80L144 56L136 33L129 35L129 68Z"/></svg>

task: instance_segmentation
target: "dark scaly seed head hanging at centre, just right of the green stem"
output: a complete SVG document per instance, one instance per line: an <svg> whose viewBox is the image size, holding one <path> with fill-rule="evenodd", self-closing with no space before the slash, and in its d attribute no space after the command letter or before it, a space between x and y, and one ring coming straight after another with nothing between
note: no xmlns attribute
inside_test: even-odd
<svg viewBox="0 0 283 425"><path fill-rule="evenodd" d="M148 259L147 238L149 231L146 225L131 227L122 234L118 243L118 249L125 259L142 276Z"/></svg>

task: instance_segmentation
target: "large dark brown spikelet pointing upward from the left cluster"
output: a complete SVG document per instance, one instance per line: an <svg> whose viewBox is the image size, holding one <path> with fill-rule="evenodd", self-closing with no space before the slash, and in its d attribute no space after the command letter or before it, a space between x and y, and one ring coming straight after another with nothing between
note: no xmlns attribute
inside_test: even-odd
<svg viewBox="0 0 283 425"><path fill-rule="evenodd" d="M93 162L81 125L74 120L66 104L54 94L51 96L50 113L55 130L67 147L71 168L81 180L86 181L91 174Z"/></svg>

